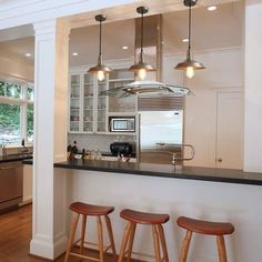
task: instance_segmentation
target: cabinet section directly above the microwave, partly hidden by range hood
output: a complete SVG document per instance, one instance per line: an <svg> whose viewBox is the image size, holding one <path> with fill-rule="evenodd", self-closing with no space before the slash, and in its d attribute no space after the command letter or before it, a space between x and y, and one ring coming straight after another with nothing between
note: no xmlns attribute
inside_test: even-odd
<svg viewBox="0 0 262 262"><path fill-rule="evenodd" d="M109 77L109 89L124 87L134 81L133 72L128 69L118 69ZM121 91L117 95L109 97L109 113L135 113L137 112L137 95L121 98Z"/></svg>

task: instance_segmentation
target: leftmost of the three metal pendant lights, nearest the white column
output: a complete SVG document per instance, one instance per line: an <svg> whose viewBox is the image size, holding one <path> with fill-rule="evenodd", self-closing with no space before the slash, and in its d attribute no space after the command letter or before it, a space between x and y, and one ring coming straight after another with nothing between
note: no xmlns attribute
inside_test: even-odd
<svg viewBox="0 0 262 262"><path fill-rule="evenodd" d="M112 70L102 62L102 22L107 20L107 17L104 14L98 14L94 19L99 22L99 57L98 64L90 68L88 72L97 74L98 80L103 81L105 74L112 72Z"/></svg>

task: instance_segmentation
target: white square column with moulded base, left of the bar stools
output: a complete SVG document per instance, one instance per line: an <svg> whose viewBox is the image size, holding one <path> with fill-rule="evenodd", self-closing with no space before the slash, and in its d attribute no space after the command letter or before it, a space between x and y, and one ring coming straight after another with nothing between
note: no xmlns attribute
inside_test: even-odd
<svg viewBox="0 0 262 262"><path fill-rule="evenodd" d="M69 29L52 19L34 24L33 233L30 253L54 259L64 251L66 181L53 162L66 160ZM59 184L59 187L57 187ZM58 222L59 221L59 222Z"/></svg>

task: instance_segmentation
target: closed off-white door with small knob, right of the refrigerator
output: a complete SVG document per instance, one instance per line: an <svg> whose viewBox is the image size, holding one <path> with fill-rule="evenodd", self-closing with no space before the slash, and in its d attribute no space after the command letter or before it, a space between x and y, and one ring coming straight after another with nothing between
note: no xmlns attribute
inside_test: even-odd
<svg viewBox="0 0 262 262"><path fill-rule="evenodd" d="M241 92L218 93L216 167L243 168L243 103Z"/></svg>

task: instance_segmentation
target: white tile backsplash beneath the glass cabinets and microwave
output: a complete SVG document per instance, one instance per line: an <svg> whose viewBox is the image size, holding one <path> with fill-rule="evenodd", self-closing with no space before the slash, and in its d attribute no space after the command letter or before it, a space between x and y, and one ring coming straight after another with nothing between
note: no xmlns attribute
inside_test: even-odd
<svg viewBox="0 0 262 262"><path fill-rule="evenodd" d="M110 144L113 142L128 142L133 145L135 151L137 135L117 135L117 134L68 134L68 144L77 141L79 150L100 150L101 152L110 152Z"/></svg>

